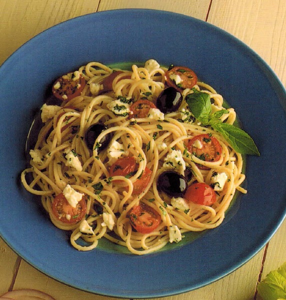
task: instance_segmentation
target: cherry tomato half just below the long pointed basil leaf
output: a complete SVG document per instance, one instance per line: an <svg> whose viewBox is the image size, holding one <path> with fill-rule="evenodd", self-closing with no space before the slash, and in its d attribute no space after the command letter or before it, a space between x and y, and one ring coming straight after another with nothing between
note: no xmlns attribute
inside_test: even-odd
<svg viewBox="0 0 286 300"><path fill-rule="evenodd" d="M209 134L195 135L189 140L187 149L201 160L217 161L221 155L221 145L219 141ZM199 169L208 170L209 168L198 164Z"/></svg>

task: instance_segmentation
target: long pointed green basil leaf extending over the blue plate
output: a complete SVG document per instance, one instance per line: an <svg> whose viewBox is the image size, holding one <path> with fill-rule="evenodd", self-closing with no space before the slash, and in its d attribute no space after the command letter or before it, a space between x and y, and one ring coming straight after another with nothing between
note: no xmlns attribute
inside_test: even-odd
<svg viewBox="0 0 286 300"><path fill-rule="evenodd" d="M248 133L231 124L223 122L211 122L210 125L217 130L233 149L241 154L260 156L260 153Z"/></svg>

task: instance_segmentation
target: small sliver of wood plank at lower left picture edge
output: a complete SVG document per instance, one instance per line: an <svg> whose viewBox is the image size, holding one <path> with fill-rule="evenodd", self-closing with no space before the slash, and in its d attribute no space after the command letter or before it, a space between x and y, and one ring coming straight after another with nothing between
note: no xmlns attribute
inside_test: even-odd
<svg viewBox="0 0 286 300"><path fill-rule="evenodd" d="M18 256L0 238L0 295L8 290L17 269Z"/></svg>

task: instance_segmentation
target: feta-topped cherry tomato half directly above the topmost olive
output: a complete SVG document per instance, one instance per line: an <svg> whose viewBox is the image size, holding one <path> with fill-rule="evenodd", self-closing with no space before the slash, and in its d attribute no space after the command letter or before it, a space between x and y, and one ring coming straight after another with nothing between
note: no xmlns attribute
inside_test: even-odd
<svg viewBox="0 0 286 300"><path fill-rule="evenodd" d="M186 66L174 66L166 72L166 84L179 91L192 88L197 82L197 76L193 70Z"/></svg>

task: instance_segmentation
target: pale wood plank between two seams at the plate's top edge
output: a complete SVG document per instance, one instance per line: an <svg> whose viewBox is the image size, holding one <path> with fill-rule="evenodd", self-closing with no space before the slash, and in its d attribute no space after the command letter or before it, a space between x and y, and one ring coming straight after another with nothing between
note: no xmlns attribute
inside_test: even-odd
<svg viewBox="0 0 286 300"><path fill-rule="evenodd" d="M204 20L209 3L210 0L101 0L98 11L120 8L150 8L183 13Z"/></svg>

